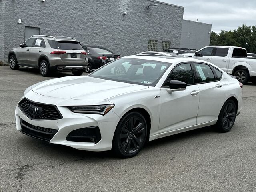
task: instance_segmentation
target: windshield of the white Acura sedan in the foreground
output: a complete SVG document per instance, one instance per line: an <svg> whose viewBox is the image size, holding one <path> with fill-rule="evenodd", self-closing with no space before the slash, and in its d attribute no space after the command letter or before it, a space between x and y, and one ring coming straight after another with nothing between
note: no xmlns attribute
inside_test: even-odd
<svg viewBox="0 0 256 192"><path fill-rule="evenodd" d="M171 63L145 59L120 58L88 75L90 77L156 86Z"/></svg>

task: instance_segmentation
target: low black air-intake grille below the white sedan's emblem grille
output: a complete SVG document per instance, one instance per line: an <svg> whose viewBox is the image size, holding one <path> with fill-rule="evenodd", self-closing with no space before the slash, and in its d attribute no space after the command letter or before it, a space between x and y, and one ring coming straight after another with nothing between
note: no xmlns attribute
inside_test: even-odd
<svg viewBox="0 0 256 192"><path fill-rule="evenodd" d="M34 137L34 138L37 138L40 140L48 141L48 142L58 132L58 130L56 130L56 129L34 126L22 119L20 119L20 125L21 125L20 132L22 132L28 136L31 136L31 137Z"/></svg>

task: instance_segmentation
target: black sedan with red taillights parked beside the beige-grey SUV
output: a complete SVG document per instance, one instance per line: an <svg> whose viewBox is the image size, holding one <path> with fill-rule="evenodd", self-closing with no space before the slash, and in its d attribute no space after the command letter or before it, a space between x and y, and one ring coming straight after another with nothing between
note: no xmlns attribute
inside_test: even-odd
<svg viewBox="0 0 256 192"><path fill-rule="evenodd" d="M87 73L90 73L92 69L98 69L108 62L120 58L120 55L115 54L104 47L91 45L82 45L82 47L88 57L88 67L85 70Z"/></svg>

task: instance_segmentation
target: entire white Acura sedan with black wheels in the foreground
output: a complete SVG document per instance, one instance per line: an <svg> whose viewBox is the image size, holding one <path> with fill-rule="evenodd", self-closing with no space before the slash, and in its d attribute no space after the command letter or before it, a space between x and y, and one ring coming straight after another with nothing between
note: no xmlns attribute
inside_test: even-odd
<svg viewBox="0 0 256 192"><path fill-rule="evenodd" d="M28 136L126 158L172 134L210 125L228 132L241 109L242 84L209 62L126 56L28 87L15 114Z"/></svg>

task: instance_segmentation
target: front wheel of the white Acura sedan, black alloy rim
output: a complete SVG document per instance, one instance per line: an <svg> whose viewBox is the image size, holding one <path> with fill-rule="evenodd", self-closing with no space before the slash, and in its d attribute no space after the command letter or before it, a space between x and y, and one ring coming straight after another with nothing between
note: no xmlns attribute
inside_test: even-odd
<svg viewBox="0 0 256 192"><path fill-rule="evenodd" d="M112 152L121 158L136 156L147 138L147 124L139 112L126 114L118 123L112 142Z"/></svg>

